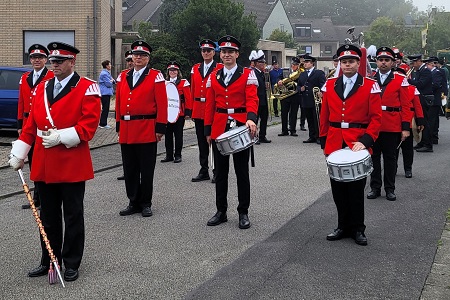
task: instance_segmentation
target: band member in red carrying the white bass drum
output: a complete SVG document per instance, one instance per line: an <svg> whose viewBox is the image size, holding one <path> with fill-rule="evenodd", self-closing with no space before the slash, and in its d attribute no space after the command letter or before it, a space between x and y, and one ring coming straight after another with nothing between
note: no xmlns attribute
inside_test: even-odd
<svg viewBox="0 0 450 300"><path fill-rule="evenodd" d="M184 106L186 99L191 98L191 87L189 81L183 79L180 65L176 61L171 61L167 65L166 80L175 84L180 95L180 113L175 123L167 123L166 128L166 157L161 162L173 161L174 163L181 162L181 150L183 149L183 128L184 128ZM175 159L173 140L175 139Z"/></svg>

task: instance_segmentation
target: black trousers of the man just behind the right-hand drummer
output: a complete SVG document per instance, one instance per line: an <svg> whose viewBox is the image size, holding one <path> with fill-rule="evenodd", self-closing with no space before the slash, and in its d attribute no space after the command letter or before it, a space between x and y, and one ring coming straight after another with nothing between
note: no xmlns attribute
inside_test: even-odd
<svg viewBox="0 0 450 300"><path fill-rule="evenodd" d="M380 132L373 144L373 172L370 175L372 190L381 190L384 181L385 191L395 190L395 175L397 173L397 146L401 140L400 132ZM381 154L383 154L384 176L381 180Z"/></svg>

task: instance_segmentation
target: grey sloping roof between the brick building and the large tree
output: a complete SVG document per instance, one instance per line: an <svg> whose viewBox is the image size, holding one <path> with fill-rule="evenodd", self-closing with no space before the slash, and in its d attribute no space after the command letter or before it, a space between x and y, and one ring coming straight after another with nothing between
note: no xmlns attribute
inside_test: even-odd
<svg viewBox="0 0 450 300"><path fill-rule="evenodd" d="M133 25L134 21L149 21L162 4L162 0L126 0L123 7L127 7L122 13L122 22L126 25ZM153 20L154 21L154 20ZM153 22L152 22L153 23ZM155 24L156 25L156 24Z"/></svg>

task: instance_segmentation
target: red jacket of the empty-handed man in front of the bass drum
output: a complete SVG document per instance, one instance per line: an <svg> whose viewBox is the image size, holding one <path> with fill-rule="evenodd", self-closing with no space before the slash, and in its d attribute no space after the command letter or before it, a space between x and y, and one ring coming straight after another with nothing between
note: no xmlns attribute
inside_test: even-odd
<svg viewBox="0 0 450 300"><path fill-rule="evenodd" d="M160 71L146 67L134 87L133 69L120 73L117 82L119 143L156 142L156 133L166 132L168 102L164 76Z"/></svg>

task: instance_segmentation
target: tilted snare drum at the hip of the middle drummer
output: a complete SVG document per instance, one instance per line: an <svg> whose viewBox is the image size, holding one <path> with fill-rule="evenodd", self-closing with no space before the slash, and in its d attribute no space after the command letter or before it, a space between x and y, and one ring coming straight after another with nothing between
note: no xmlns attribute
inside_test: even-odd
<svg viewBox="0 0 450 300"><path fill-rule="evenodd" d="M255 141L250 135L247 126L234 127L222 133L216 139L217 149L222 155L230 155L251 147Z"/></svg>

